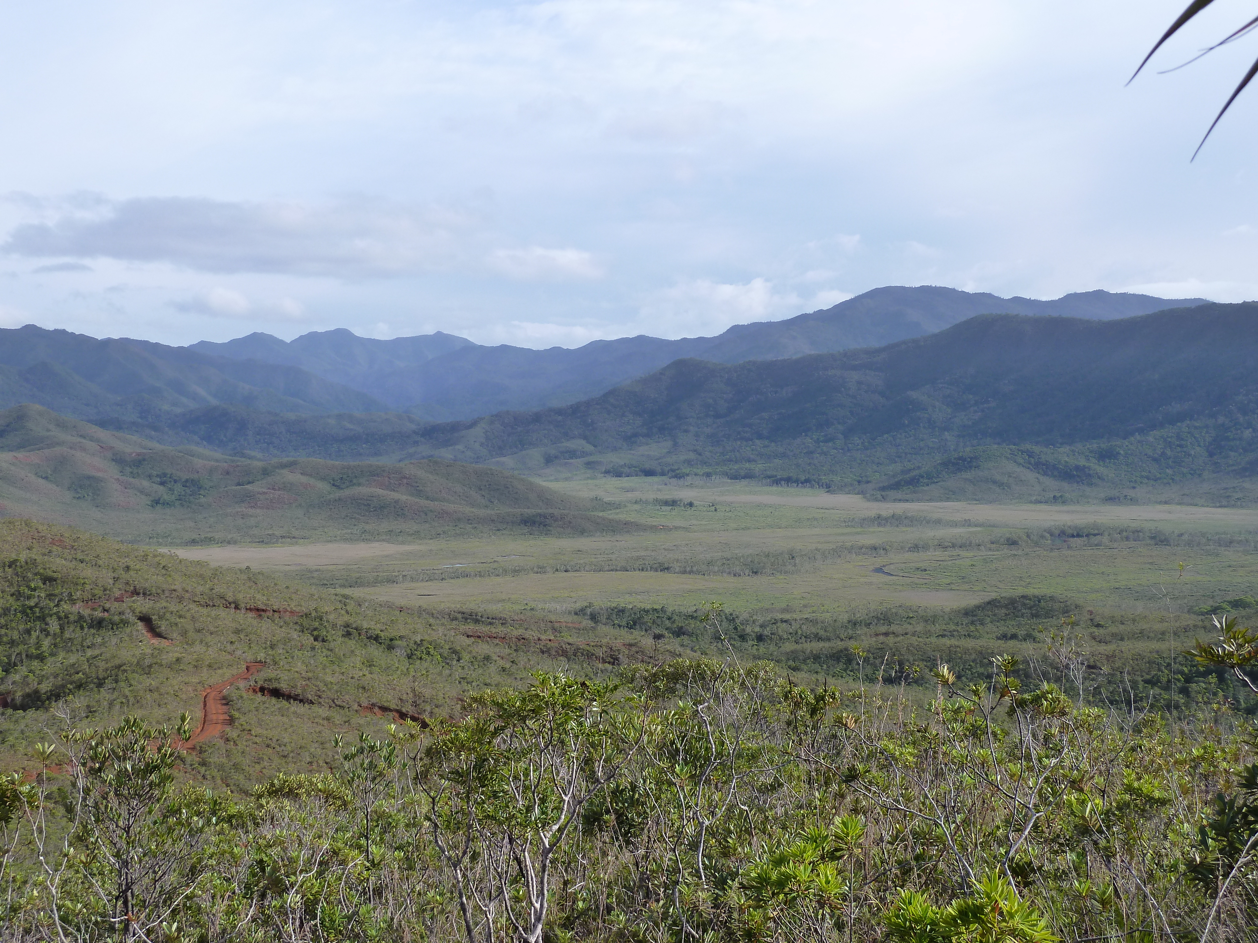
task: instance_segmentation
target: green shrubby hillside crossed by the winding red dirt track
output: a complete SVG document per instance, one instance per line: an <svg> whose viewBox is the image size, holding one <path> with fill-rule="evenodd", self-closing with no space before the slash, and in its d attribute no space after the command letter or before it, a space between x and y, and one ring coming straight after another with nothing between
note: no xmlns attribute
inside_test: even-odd
<svg viewBox="0 0 1258 943"><path fill-rule="evenodd" d="M464 695L530 670L609 671L606 631L399 610L30 521L0 521L0 563L4 773L31 768L30 746L63 725L57 704L89 727L132 713L175 725L187 712L195 729L218 689L219 728L181 775L247 790L281 769L326 771L336 734L457 715ZM625 663L648 645L610 642Z"/></svg>

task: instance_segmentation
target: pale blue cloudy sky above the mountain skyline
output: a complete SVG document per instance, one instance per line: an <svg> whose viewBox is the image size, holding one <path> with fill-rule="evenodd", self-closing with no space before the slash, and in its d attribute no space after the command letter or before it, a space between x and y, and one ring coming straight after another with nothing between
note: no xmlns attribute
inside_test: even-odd
<svg viewBox="0 0 1258 943"><path fill-rule="evenodd" d="M720 333L887 284L1258 298L1184 0L0 3L0 327ZM1218 9L1216 9L1218 8Z"/></svg>

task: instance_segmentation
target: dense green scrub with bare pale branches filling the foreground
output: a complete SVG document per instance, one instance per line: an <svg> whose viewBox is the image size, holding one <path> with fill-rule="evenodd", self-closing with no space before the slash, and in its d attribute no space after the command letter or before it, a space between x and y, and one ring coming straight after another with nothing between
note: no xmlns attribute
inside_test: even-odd
<svg viewBox="0 0 1258 943"><path fill-rule="evenodd" d="M0 793L5 938L1249 938L1248 722L932 674L540 674L245 796L176 786L169 728L60 731Z"/></svg>

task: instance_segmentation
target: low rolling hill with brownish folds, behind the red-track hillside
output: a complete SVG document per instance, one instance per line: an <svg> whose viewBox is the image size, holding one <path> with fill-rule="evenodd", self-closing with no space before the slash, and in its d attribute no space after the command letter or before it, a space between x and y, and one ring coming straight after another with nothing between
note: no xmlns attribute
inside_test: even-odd
<svg viewBox="0 0 1258 943"><path fill-rule="evenodd" d="M498 469L230 459L162 448L34 405L0 412L0 503L10 517L171 544L635 527Z"/></svg>

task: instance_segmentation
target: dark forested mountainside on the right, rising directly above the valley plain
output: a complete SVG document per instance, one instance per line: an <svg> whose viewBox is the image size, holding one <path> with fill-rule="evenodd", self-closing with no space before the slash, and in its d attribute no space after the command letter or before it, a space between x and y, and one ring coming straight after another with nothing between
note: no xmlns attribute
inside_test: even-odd
<svg viewBox="0 0 1258 943"><path fill-rule="evenodd" d="M982 316L876 350L678 361L572 406L426 427L410 454L811 478L903 497L1248 479L1255 357L1258 303L1108 322ZM950 492L957 479L967 484Z"/></svg>

